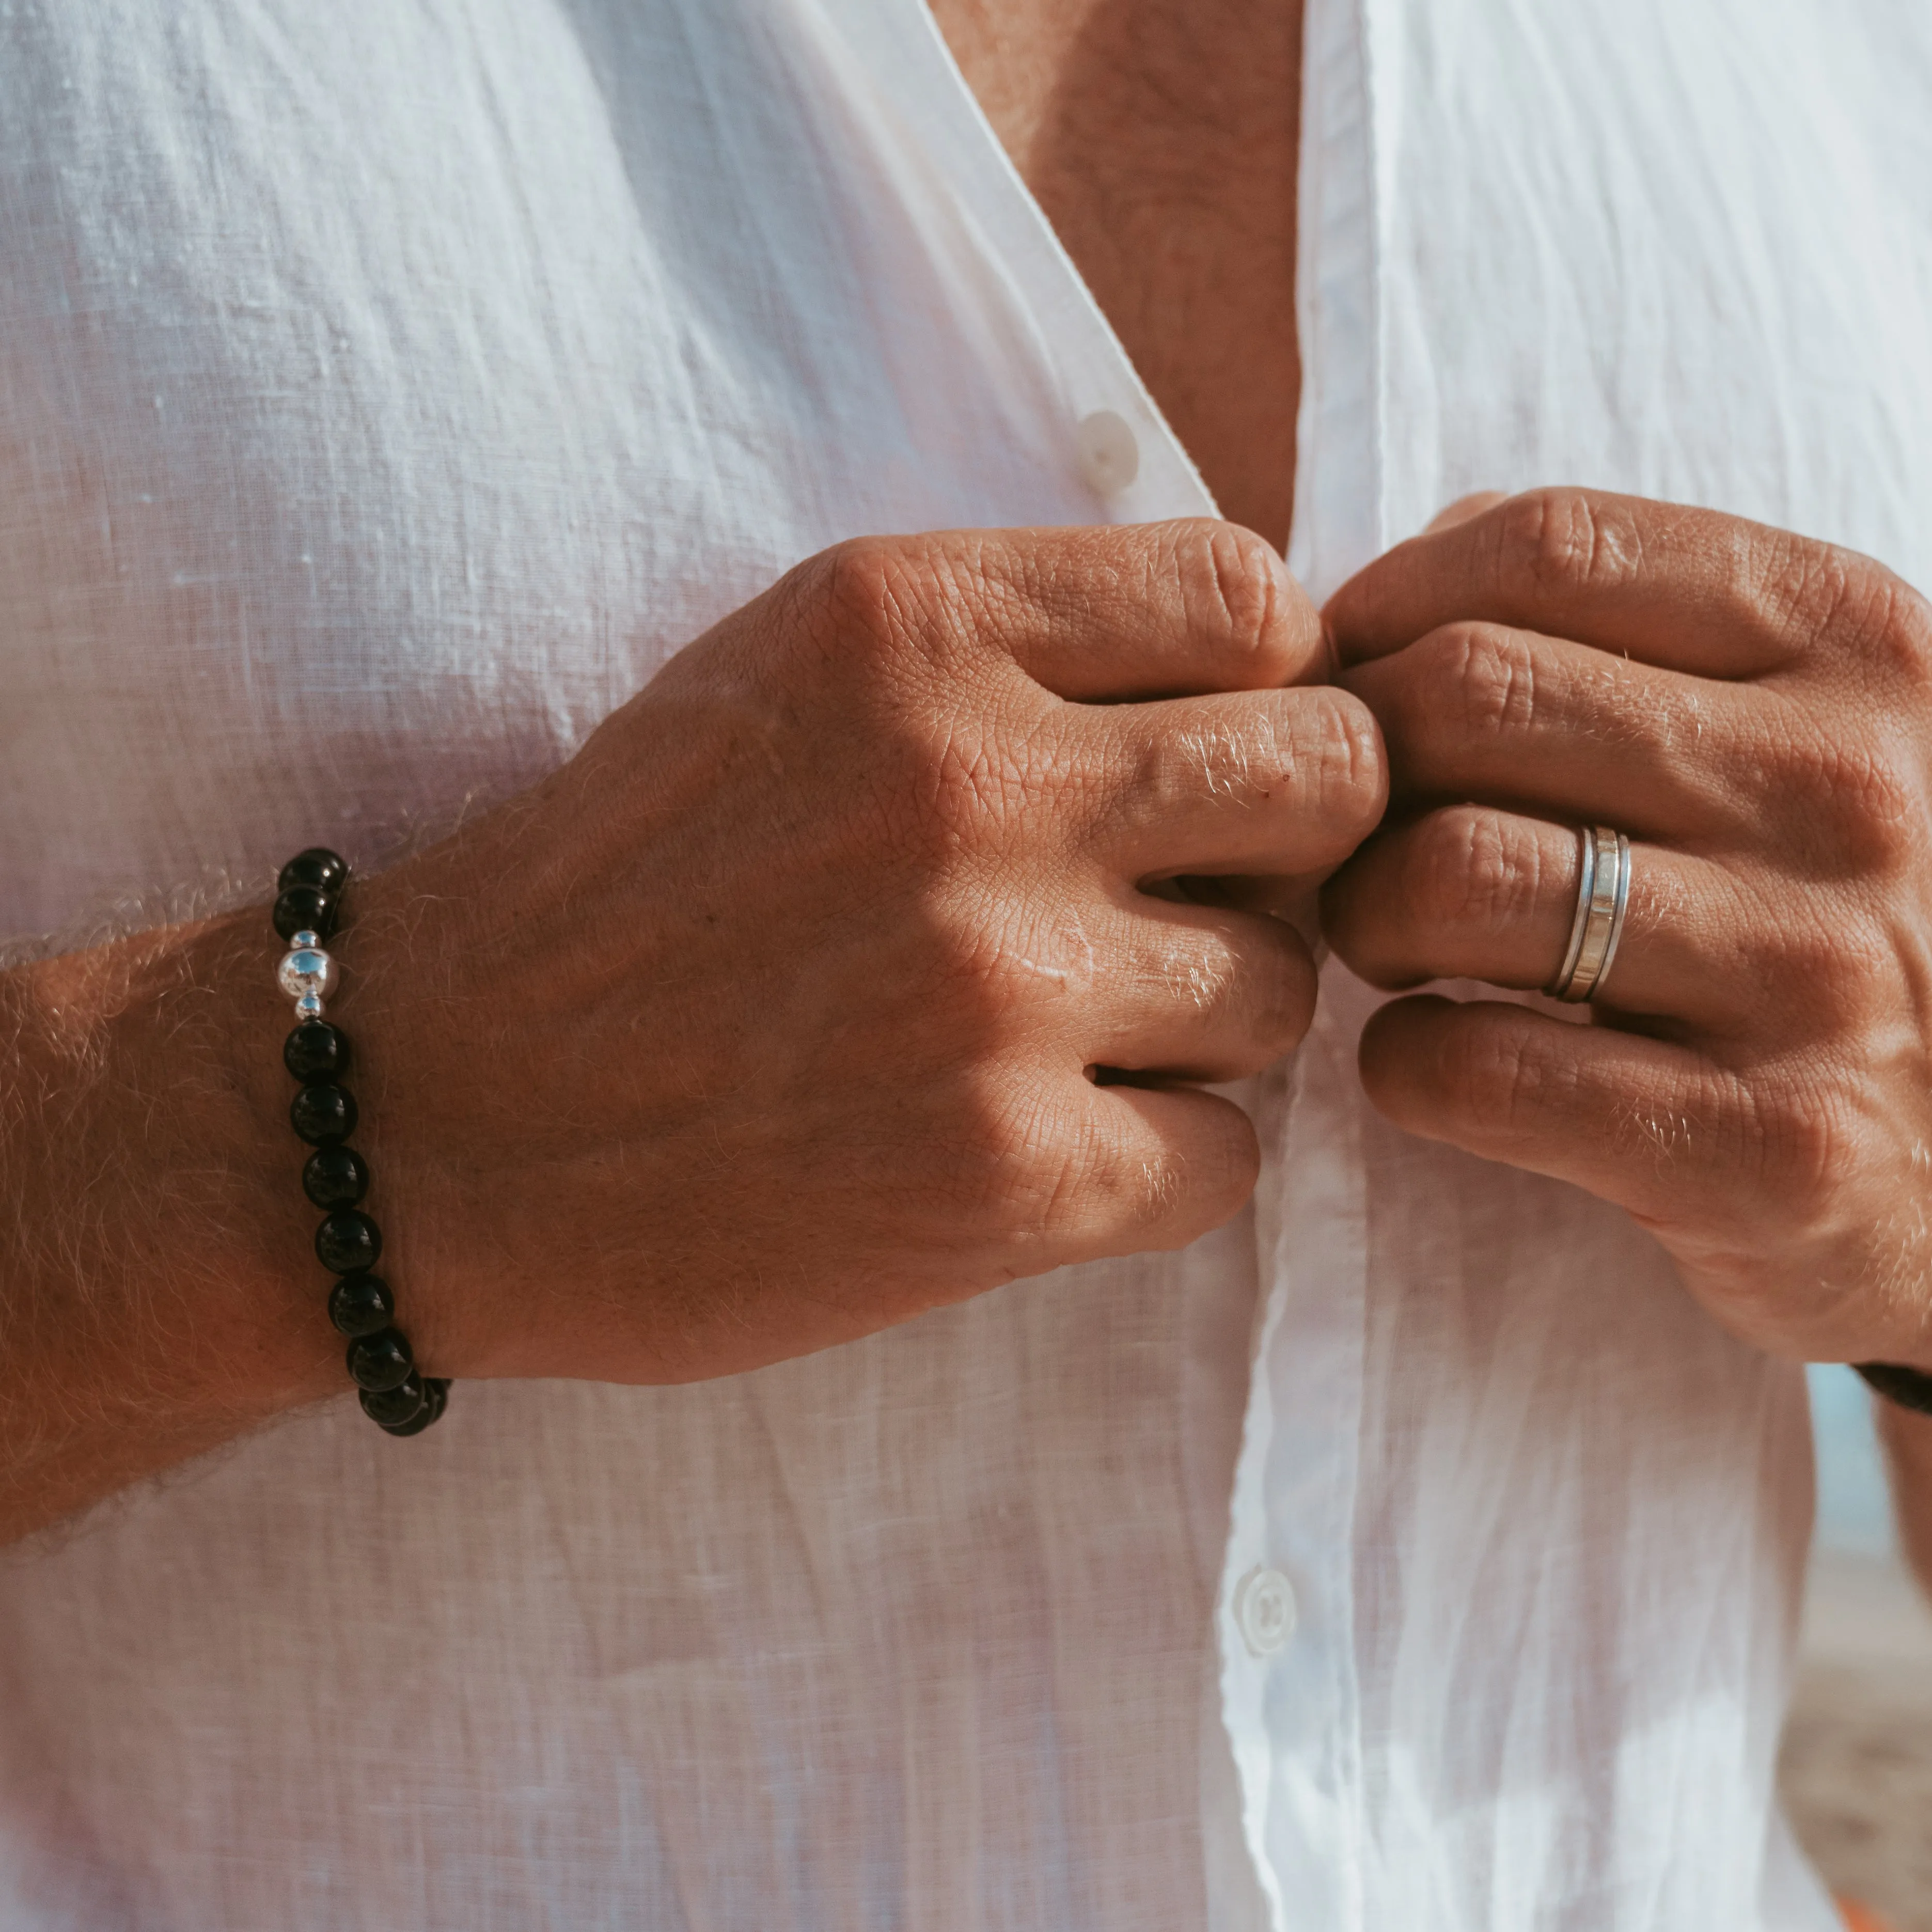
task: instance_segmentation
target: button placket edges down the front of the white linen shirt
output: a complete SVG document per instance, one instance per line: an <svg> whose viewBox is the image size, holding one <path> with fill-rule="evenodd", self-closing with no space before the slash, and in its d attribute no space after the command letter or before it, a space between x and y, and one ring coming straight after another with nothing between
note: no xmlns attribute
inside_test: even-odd
<svg viewBox="0 0 1932 1932"><path fill-rule="evenodd" d="M1009 280L1014 311L1036 330L1061 408L1059 444L1092 495L1095 522L1215 516L1206 483L1007 158L927 10L879 0L867 15L867 64L877 71L889 58L895 71L918 77L918 97L933 110L922 118L918 147L943 170L956 211L980 230L989 272ZM1302 398L1289 560L1318 595L1381 539L1366 35L1360 0L1310 0L1296 290ZM1260 1082L1262 1293L1215 1638L1240 1837L1277 1932L1352 1932L1362 1917L1350 1575L1366 1273L1356 1028L1358 1016L1323 1010L1294 1061ZM1204 1803L1213 1801L1204 1787Z"/></svg>

